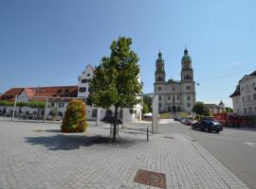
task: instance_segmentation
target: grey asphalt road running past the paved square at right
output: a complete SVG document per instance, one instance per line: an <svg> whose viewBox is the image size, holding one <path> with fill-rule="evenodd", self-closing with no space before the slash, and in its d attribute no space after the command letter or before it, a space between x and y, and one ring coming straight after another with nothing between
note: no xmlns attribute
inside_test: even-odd
<svg viewBox="0 0 256 189"><path fill-rule="evenodd" d="M129 128L151 128L151 124L131 124ZM224 129L219 134L192 130L178 122L159 125L161 133L182 133L204 146L237 177L256 189L256 129ZM255 146L254 146L255 144Z"/></svg>

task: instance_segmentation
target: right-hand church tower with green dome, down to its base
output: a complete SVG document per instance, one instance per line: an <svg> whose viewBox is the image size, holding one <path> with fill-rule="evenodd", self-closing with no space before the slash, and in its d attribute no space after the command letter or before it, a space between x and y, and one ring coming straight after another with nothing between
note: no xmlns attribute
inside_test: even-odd
<svg viewBox="0 0 256 189"><path fill-rule="evenodd" d="M181 59L181 66L182 109L185 112L192 112L192 107L195 104L195 82L193 81L192 59L187 47L185 47Z"/></svg>

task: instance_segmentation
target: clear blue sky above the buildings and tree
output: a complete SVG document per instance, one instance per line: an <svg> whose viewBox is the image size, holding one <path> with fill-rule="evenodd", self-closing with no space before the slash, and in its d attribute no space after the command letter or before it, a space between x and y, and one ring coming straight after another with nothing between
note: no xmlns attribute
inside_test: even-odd
<svg viewBox="0 0 256 189"><path fill-rule="evenodd" d="M0 93L11 87L77 84L86 64L131 37L144 93L153 92L159 48L167 79L180 79L185 44L197 100L231 106L238 80L256 70L251 0L1 0Z"/></svg>

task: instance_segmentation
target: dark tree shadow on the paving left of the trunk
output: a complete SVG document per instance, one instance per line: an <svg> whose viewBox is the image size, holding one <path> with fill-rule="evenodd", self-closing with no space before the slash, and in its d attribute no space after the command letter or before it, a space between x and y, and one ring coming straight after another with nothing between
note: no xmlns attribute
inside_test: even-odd
<svg viewBox="0 0 256 189"><path fill-rule="evenodd" d="M96 144L109 144L110 138L101 135L96 136L67 136L57 134L54 136L25 137L26 142L32 146L46 146L48 150L72 150L80 146L93 146Z"/></svg>

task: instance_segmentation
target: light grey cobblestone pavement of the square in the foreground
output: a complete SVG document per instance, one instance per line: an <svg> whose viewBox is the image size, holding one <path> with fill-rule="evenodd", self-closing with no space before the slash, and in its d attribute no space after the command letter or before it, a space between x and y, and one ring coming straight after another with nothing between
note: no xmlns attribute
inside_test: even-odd
<svg viewBox="0 0 256 189"><path fill-rule="evenodd" d="M167 188L247 186L181 134L151 135L90 127L64 134L57 124L0 121L0 188L156 188L134 182L137 169L166 175Z"/></svg>

